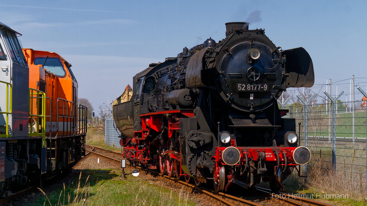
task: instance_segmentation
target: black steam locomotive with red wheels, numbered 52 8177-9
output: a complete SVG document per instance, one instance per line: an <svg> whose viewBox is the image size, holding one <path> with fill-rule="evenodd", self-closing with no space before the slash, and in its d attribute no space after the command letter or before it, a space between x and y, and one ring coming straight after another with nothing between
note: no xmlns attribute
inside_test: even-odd
<svg viewBox="0 0 367 206"><path fill-rule="evenodd" d="M264 30L229 22L218 43L151 63L133 77L132 100L113 106L124 157L197 185L212 180L216 191L264 181L280 190L310 151L277 99L315 77L304 48L279 49Z"/></svg>

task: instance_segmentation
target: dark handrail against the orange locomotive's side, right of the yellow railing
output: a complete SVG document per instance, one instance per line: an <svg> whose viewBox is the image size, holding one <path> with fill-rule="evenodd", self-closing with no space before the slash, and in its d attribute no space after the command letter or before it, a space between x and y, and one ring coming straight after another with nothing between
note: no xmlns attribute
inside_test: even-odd
<svg viewBox="0 0 367 206"><path fill-rule="evenodd" d="M59 107L59 101L62 101L62 107ZM66 103L66 108L65 108ZM68 106L70 103L70 107ZM59 133L59 117L62 117L62 135L61 136L67 136L72 135L74 132L74 128L72 127L72 121L74 120L74 117L72 116L72 107L75 102L71 102L66 99L57 98L57 135ZM59 115L59 109L62 109L62 115ZM66 109L66 114L65 114ZM69 111L70 110L70 111ZM70 120L70 121L69 121ZM65 131L65 123L66 123L66 131ZM70 124L70 125L69 125ZM70 131L68 131L70 129Z"/></svg>

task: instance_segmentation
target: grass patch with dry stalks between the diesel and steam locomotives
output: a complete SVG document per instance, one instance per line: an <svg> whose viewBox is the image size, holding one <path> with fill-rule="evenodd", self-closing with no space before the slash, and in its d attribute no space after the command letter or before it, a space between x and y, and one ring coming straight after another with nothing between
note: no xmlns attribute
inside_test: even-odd
<svg viewBox="0 0 367 206"><path fill-rule="evenodd" d="M112 170L83 170L79 179L51 194L43 192L44 195L31 206L195 205L183 187L174 193L139 176L127 175L126 179L121 179L120 174Z"/></svg>

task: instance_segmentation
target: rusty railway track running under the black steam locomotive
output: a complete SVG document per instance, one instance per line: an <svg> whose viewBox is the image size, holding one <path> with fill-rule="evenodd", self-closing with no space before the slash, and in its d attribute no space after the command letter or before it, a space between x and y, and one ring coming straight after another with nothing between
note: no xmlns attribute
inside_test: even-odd
<svg viewBox="0 0 367 206"><path fill-rule="evenodd" d="M91 153L94 153L94 154L99 155L101 157L108 158L108 159L116 161L116 162L121 161L121 158L122 158L121 153L106 150L106 149L103 149L103 148L97 147L97 146L88 146L88 147L93 148L93 149L90 150ZM103 152L104 154L101 154L99 152L101 152L101 153ZM109 155L106 155L108 153L114 155L115 158L110 157ZM119 159L117 159L117 158L119 158ZM127 162L127 165L130 165L130 164ZM162 176L158 172L154 172L154 171L151 171L151 170L146 170L146 169L143 169L139 166L132 166L132 165L130 165L130 166L134 167L134 168L137 168L139 170L151 173L155 176L156 175ZM211 198L221 202L224 205L228 205L228 206L235 206L235 205L261 206L261 204L256 203L256 202L248 201L246 199L239 198L239 197L229 195L229 194L225 194L223 192L216 192L216 191L210 190L208 188L198 187L194 184L186 183L185 181L181 181L181 180L177 180L177 179L172 178L172 177L168 177L167 175L163 175L163 177L166 178L166 179L169 179L171 181L175 181L177 183L186 185L187 187L190 187L193 190L199 191L203 194L206 194L206 195L210 196ZM279 203L284 203L284 205L332 206L332 205L327 204L327 203L315 201L315 200L312 200L312 199L301 198L301 197L298 197L296 195L285 194L285 193L282 193L282 192L273 193L273 192L271 192L271 190L268 190L268 189L265 189L265 188L255 187L255 189L259 192L262 192L262 193L268 195L269 199L272 199L274 201L278 201Z"/></svg>

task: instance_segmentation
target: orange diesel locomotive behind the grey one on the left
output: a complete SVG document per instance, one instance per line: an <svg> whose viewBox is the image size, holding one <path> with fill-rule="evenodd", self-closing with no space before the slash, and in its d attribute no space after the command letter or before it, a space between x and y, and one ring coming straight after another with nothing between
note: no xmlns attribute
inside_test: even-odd
<svg viewBox="0 0 367 206"><path fill-rule="evenodd" d="M77 107L78 83L69 62L55 52L25 48L23 53L29 67L29 88L46 95L45 132L49 137L47 148L51 148L47 167L61 169L85 153L87 108ZM37 99L32 101L34 113L39 109L36 108ZM30 118L30 132L36 130L36 121L35 117Z"/></svg>

